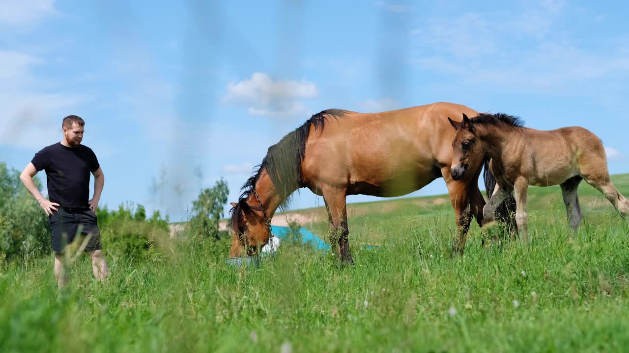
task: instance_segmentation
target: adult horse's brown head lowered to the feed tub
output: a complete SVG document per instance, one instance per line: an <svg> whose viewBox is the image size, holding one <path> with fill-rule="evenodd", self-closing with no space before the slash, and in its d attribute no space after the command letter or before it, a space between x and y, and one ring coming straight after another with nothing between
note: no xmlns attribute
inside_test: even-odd
<svg viewBox="0 0 629 353"><path fill-rule="evenodd" d="M262 206L248 204L247 198L241 198L238 203L232 202L231 206L233 207L230 210L230 227L233 241L230 258L259 253L270 236L270 219L267 218L265 210Z"/></svg>

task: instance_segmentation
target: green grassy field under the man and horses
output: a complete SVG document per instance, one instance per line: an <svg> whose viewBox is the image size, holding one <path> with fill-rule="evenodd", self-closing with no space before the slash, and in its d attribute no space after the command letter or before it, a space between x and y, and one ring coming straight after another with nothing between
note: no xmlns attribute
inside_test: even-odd
<svg viewBox="0 0 629 353"><path fill-rule="evenodd" d="M629 196L629 175L613 181ZM455 259L450 206L425 197L351 205L353 244L379 244L355 247L355 266L286 245L258 269L228 268L227 239L162 239L133 259L104 244L108 281L82 257L57 293L52 256L3 262L0 350L626 351L629 226L597 193L579 188L572 236L559 188L531 188L528 246L481 247L475 225Z"/></svg>

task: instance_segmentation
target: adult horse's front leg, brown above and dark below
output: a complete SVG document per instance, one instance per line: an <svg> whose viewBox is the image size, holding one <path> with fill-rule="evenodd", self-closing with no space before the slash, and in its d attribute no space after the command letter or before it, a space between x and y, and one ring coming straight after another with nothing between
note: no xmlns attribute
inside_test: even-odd
<svg viewBox="0 0 629 353"><path fill-rule="evenodd" d="M328 209L330 242L335 250L335 254L343 262L353 264L348 238L347 207L345 205L347 192L345 189L340 188L327 188L321 191L323 191L323 199Z"/></svg>

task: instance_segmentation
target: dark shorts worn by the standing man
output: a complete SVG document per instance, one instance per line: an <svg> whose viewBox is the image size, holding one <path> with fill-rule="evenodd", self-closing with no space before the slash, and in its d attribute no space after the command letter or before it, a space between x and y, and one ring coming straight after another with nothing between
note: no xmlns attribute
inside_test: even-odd
<svg viewBox="0 0 629 353"><path fill-rule="evenodd" d="M48 216L52 231L52 249L62 254L65 246L77 240L80 245L86 236L85 251L103 249L101 247L101 231L98 229L96 214L90 209L64 209L57 207L52 216ZM79 239L76 239L79 237Z"/></svg>

